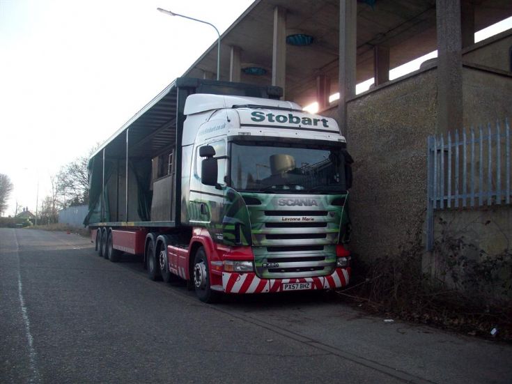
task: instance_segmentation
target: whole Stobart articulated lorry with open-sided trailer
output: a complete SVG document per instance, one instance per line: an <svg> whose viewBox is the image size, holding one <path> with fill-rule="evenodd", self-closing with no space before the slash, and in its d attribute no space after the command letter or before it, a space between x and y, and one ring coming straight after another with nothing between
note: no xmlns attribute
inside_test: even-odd
<svg viewBox="0 0 512 384"><path fill-rule="evenodd" d="M226 293L346 286L352 158L332 118L282 91L178 78L92 155L84 224L100 256Z"/></svg>

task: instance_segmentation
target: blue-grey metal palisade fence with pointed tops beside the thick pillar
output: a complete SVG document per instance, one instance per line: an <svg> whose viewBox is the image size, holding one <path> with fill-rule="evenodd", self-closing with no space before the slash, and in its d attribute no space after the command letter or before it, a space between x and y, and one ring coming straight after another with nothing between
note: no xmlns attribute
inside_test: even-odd
<svg viewBox="0 0 512 384"><path fill-rule="evenodd" d="M434 210L510 204L509 121L428 137L426 249L433 249Z"/></svg>

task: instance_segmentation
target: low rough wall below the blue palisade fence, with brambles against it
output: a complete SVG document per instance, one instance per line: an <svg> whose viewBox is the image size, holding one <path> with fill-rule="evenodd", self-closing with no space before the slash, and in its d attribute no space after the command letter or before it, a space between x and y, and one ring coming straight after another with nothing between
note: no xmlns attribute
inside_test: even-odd
<svg viewBox="0 0 512 384"><path fill-rule="evenodd" d="M423 259L434 281L492 304L512 299L512 207L435 211L434 252Z"/></svg>

